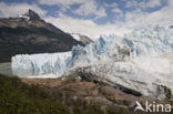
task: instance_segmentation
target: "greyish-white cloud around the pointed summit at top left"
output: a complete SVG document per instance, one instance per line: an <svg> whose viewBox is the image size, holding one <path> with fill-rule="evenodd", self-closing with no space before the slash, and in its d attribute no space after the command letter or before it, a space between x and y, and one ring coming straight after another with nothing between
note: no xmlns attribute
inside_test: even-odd
<svg viewBox="0 0 173 114"><path fill-rule="evenodd" d="M0 17L17 17L28 12L29 9L38 12L40 15L44 15L47 13L47 11L42 10L37 4L0 2Z"/></svg>

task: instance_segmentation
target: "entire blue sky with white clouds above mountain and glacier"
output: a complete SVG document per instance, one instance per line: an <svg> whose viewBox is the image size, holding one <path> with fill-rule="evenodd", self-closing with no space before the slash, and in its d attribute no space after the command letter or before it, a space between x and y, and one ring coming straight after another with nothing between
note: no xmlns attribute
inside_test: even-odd
<svg viewBox="0 0 173 114"><path fill-rule="evenodd" d="M29 9L65 32L89 37L173 24L173 0L0 0L0 18Z"/></svg>

